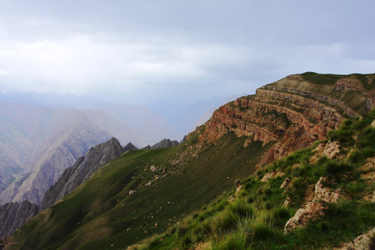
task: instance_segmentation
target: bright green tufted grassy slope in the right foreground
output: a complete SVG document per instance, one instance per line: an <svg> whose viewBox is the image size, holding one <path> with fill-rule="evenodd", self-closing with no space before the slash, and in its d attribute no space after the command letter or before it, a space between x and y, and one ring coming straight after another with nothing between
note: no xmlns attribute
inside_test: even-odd
<svg viewBox="0 0 375 250"><path fill-rule="evenodd" d="M312 163L314 147L296 151L259 169L242 182L237 195L235 190L224 194L166 233L144 240L137 249L331 249L353 240L375 226L375 203L364 198L375 190L374 180L366 180L364 174L375 169L363 168L375 156L375 127L369 126L374 119L375 109L364 119L348 119L340 130L331 131L330 139L341 144L338 158L320 156ZM285 176L261 182L272 169L282 170ZM326 185L332 189L340 188L340 201L329 205L324 217L284 234L285 223L306 202L306 190L320 176L328 177ZM279 187L286 177L293 181L283 192ZM285 208L287 194L292 206Z"/></svg>

